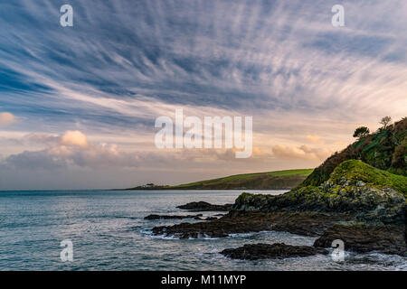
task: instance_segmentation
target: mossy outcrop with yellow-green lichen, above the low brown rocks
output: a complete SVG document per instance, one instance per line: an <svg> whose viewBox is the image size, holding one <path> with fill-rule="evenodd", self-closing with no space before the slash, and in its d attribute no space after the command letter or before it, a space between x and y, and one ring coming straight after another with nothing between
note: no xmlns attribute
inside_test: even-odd
<svg viewBox="0 0 407 289"><path fill-rule="evenodd" d="M299 187L279 196L242 193L233 210L352 212L358 219L405 221L407 177L361 161L336 167L320 186Z"/></svg>

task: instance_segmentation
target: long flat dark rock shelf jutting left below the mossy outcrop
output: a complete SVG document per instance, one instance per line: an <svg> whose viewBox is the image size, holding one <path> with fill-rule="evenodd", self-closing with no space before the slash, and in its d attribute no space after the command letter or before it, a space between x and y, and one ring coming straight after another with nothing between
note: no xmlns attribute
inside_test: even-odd
<svg viewBox="0 0 407 289"><path fill-rule="evenodd" d="M352 216L335 216L317 212L256 212L232 210L221 219L206 222L181 223L153 228L153 234L178 238L224 238L229 234L260 232L264 230L288 231L305 236L320 236L328 227Z"/></svg>

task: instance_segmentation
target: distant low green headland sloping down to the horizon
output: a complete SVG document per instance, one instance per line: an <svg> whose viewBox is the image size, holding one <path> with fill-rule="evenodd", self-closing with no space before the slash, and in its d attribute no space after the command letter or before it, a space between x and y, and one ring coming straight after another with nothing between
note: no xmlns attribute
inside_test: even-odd
<svg viewBox="0 0 407 289"><path fill-rule="evenodd" d="M125 190L290 190L307 179L311 172L313 169L244 173L175 186L147 183Z"/></svg>

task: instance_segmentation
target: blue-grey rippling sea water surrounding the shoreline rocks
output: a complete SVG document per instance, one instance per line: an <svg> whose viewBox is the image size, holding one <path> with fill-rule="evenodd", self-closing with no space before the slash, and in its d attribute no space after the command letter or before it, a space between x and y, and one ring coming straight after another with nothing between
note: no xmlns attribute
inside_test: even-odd
<svg viewBox="0 0 407 289"><path fill-rule="evenodd" d="M261 191L279 194L283 191ZM177 239L151 228L184 220L145 220L148 214L195 214L177 205L233 202L241 191L0 191L0 270L407 270L407 258L378 253L241 261L219 254L243 244L311 246L315 238L285 232L229 238ZM210 216L219 212L204 212ZM73 261L62 262L62 240Z"/></svg>

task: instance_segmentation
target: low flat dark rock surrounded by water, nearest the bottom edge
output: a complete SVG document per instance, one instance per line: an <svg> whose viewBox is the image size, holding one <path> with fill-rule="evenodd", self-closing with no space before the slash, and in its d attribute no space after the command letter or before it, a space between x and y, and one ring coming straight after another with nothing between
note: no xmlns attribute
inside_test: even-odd
<svg viewBox="0 0 407 289"><path fill-rule="evenodd" d="M233 259L258 260L268 258L289 258L296 256L327 255L323 248L309 246L291 246L284 243L246 244L243 247L224 249L221 254Z"/></svg>

